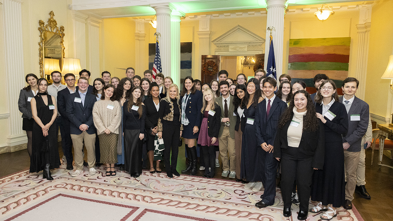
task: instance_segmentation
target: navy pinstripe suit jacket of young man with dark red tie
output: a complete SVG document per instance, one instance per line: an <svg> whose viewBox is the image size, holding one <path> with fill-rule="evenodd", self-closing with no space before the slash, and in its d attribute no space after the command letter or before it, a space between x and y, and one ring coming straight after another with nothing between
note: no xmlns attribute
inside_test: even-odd
<svg viewBox="0 0 393 221"><path fill-rule="evenodd" d="M263 101L257 105L257 112L255 113L254 125L258 145L263 143L274 145L278 121L281 114L288 108L285 101L275 96L270 105L269 116L266 117L266 105L266 99L263 99Z"/></svg>

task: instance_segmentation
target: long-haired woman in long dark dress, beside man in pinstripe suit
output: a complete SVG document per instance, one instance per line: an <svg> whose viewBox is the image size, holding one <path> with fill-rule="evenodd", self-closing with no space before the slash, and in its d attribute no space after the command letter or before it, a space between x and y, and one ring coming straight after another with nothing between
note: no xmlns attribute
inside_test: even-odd
<svg viewBox="0 0 393 221"><path fill-rule="evenodd" d="M263 98L261 97L261 89L259 89L259 81L256 78L248 80L246 88L244 120L241 125L243 135L240 177L249 182L244 186L245 189L260 190L262 188L261 156L263 149L257 144L253 120L255 120L257 104L263 101Z"/></svg>

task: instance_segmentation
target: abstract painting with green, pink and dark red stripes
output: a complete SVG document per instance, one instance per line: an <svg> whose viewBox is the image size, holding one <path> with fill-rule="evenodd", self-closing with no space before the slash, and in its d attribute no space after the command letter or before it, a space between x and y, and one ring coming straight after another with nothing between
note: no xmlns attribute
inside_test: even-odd
<svg viewBox="0 0 393 221"><path fill-rule="evenodd" d="M288 74L295 81L304 81L313 93L314 76L326 74L341 94L342 81L348 77L350 44L351 37L289 39Z"/></svg>

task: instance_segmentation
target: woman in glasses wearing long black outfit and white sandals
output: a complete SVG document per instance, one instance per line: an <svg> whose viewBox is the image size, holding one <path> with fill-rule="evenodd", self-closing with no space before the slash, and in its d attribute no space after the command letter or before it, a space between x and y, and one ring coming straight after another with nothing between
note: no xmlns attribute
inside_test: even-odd
<svg viewBox="0 0 393 221"><path fill-rule="evenodd" d="M323 169L314 171L312 177L311 200L319 203L310 212L326 211L321 219L329 220L337 215L336 208L345 202L342 135L348 131L348 115L345 106L339 102L332 80L322 82L315 102L317 117L325 126L325 163Z"/></svg>

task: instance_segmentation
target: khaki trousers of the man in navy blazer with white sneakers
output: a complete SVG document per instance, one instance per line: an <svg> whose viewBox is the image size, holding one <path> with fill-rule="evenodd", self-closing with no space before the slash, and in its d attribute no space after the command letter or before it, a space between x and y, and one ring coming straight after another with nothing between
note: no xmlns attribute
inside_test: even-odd
<svg viewBox="0 0 393 221"><path fill-rule="evenodd" d="M81 134L71 134L74 147L74 160L77 169L83 170L83 141L87 151L87 163L89 169L94 168L95 164L95 133L88 134L83 131Z"/></svg>

